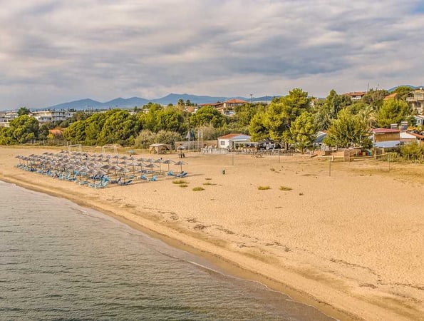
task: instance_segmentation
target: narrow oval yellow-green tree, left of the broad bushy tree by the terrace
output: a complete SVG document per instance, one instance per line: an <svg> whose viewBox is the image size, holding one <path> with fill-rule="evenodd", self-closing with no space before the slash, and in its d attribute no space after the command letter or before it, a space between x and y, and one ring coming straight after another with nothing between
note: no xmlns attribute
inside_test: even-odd
<svg viewBox="0 0 424 321"><path fill-rule="evenodd" d="M294 145L304 153L305 148L314 146L316 138L316 126L314 123L314 115L309 112L302 113L296 120L291 123L290 127L291 140Z"/></svg>

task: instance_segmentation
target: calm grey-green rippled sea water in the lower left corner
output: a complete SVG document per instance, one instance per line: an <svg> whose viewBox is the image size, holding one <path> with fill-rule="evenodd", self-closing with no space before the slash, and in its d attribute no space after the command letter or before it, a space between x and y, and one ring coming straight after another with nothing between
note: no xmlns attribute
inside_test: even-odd
<svg viewBox="0 0 424 321"><path fill-rule="evenodd" d="M69 200L0 200L0 320L334 320Z"/></svg>

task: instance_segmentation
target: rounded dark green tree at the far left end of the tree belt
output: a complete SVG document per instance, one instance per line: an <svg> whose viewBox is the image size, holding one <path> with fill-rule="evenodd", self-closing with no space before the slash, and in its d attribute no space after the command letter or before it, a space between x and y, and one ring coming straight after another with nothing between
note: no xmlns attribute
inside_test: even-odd
<svg viewBox="0 0 424 321"><path fill-rule="evenodd" d="M28 143L38 138L39 123L36 118L22 115L10 122L9 133L14 143Z"/></svg>

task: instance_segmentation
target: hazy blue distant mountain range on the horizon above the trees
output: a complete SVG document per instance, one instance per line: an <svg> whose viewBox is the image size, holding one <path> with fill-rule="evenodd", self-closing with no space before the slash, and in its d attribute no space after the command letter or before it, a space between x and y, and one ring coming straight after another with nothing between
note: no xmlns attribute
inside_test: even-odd
<svg viewBox="0 0 424 321"><path fill-rule="evenodd" d="M100 101L95 101L91 98L81 99L78 101L69 101L67 103L59 103L58 105L48 106L45 108L38 108L38 110L49 109L49 110L86 110L86 109L109 109L109 108L134 108L142 107L146 103L159 103L160 105L168 105L172 103L173 105L177 104L179 99L183 101L190 100L192 103L202 104L202 103L216 103L217 101L227 101L229 99L241 99L243 101L271 101L274 96L263 96L263 97L214 97L214 96L197 96L191 95L188 93L170 93L167 96L156 99L146 99L140 97L131 97L131 98L115 98L111 101L106 101L102 103Z"/></svg>

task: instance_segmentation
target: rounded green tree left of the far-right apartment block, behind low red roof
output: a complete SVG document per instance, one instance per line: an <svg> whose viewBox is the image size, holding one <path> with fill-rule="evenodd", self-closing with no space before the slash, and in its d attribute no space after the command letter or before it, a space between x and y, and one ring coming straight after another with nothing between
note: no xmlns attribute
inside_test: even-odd
<svg viewBox="0 0 424 321"><path fill-rule="evenodd" d="M388 99L383 102L377 113L378 126L389 128L391 123L399 124L400 121L405 121L411 113L411 108L405 101Z"/></svg>

